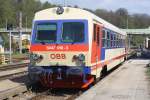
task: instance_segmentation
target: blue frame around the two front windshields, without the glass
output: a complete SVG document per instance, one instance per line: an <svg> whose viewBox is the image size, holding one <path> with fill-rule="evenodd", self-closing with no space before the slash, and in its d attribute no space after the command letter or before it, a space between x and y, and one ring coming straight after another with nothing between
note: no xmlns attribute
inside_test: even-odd
<svg viewBox="0 0 150 100"><path fill-rule="evenodd" d="M33 26L33 30L32 30L32 44L40 44L40 42L36 41L36 37L37 37L37 25L38 24L43 24L43 23L56 23L57 24L57 32L56 32L56 41L52 42L52 41L44 41L47 44L72 44L72 42L64 42L62 41L62 33L63 33L63 23L83 23L84 24L84 29L83 31L83 38L81 39L82 41L76 41L74 42L74 44L78 44L78 43L83 43L83 44L87 44L88 43L88 21L87 20L39 20L39 21L35 21L33 22L34 26ZM47 28L47 27L46 27ZM53 27L54 28L54 27ZM47 35L48 36L48 35ZM49 36L51 36L49 34Z"/></svg>

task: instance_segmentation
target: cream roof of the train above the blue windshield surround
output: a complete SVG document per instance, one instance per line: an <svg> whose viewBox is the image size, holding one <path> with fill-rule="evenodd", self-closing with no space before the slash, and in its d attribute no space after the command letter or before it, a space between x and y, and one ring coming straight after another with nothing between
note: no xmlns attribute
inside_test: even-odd
<svg viewBox="0 0 150 100"><path fill-rule="evenodd" d="M126 32L122 31L118 27L112 25L111 23L105 21L104 19L94 15L93 13L72 7L63 7L63 14L57 14L57 7L41 10L35 14L34 21L36 20L63 20L63 19L87 19L96 20L103 24L105 28L108 28L114 32L126 35ZM69 18L68 18L69 16Z"/></svg>

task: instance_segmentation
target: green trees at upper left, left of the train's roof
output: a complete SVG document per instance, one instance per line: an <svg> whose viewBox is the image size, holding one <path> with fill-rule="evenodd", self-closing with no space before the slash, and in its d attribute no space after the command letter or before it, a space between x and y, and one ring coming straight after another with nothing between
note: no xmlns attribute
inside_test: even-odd
<svg viewBox="0 0 150 100"><path fill-rule="evenodd" d="M6 22L19 26L19 12L23 14L23 27L31 28L35 12L54 7L54 5L38 0L0 0L0 27L6 27Z"/></svg>

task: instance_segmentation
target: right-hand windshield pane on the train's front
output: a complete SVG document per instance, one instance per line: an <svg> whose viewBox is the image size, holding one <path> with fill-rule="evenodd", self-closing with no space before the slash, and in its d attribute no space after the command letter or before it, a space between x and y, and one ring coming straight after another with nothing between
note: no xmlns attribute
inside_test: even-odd
<svg viewBox="0 0 150 100"><path fill-rule="evenodd" d="M85 39L85 25L83 22L63 22L61 42L82 43Z"/></svg>

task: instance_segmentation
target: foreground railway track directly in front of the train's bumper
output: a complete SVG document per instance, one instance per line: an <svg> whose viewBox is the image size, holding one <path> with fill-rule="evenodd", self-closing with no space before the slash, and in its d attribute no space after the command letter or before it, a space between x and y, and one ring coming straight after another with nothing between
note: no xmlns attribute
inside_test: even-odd
<svg viewBox="0 0 150 100"><path fill-rule="evenodd" d="M26 90L12 96L12 98L14 100L74 100L81 93L83 91L69 89L45 90L39 93Z"/></svg>

